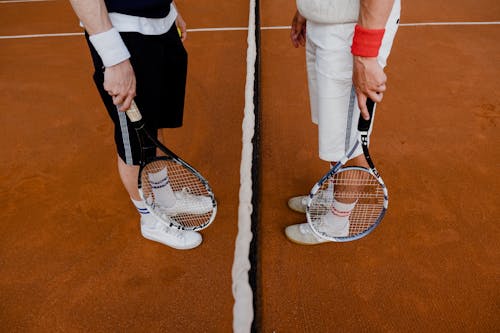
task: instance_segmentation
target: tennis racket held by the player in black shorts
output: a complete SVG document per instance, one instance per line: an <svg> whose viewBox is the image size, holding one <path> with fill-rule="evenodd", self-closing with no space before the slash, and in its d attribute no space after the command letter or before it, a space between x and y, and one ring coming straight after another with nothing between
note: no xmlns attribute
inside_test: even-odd
<svg viewBox="0 0 500 333"><path fill-rule="evenodd" d="M217 202L208 181L146 130L135 102L126 113L141 144L138 189L149 212L181 230L208 227L217 213ZM151 147L146 140L164 155L147 158L146 151Z"/></svg>

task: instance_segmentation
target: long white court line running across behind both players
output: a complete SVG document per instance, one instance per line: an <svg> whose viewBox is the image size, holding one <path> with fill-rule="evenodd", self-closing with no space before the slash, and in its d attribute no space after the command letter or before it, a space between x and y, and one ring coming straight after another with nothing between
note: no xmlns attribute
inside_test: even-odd
<svg viewBox="0 0 500 333"><path fill-rule="evenodd" d="M52 1L52 0L30 0L30 1ZM400 23L399 26L400 27L418 27L418 26L499 25L499 24L500 24L500 21L491 21L491 22L423 22L423 23ZM288 30L288 29L290 29L290 26L286 26L286 25L273 26L273 27L261 27L261 30ZM188 32L246 31L246 30L248 30L247 27L195 28L195 29L187 29ZM0 39L22 39L22 38L42 38L42 37L67 37L67 36L83 36L83 32L67 32L67 33L57 33L57 34L34 34L34 35L0 36Z"/></svg>

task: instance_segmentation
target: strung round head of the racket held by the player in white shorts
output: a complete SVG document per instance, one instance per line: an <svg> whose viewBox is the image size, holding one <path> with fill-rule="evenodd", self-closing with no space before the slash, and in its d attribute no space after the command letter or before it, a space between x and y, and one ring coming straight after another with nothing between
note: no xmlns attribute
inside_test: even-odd
<svg viewBox="0 0 500 333"><path fill-rule="evenodd" d="M325 180L313 195L309 216L314 221L313 228L327 238L355 237L378 223L386 199L384 187L368 170L345 168ZM334 216L335 205L354 207L339 218ZM332 228L334 223L344 226L342 232Z"/></svg>

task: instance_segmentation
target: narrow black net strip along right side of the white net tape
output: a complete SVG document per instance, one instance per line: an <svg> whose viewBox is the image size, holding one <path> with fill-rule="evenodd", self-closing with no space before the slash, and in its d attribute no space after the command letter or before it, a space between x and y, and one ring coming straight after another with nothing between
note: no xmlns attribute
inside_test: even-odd
<svg viewBox="0 0 500 333"><path fill-rule="evenodd" d="M255 0L255 80L253 84L253 103L255 113L255 129L252 139L253 154L252 154L252 242L250 243L250 271L249 283L253 291L253 309L254 319L252 322L251 331L253 333L261 332L261 269L260 269L260 0Z"/></svg>

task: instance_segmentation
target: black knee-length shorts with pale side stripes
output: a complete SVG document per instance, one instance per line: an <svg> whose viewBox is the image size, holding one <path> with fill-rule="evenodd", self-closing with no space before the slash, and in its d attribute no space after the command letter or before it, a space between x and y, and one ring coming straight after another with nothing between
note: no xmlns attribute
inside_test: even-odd
<svg viewBox="0 0 500 333"><path fill-rule="evenodd" d="M150 132L154 135L160 128L182 126L187 52L175 24L163 35L150 36L136 32L120 34L131 54L130 62L136 76L135 102ZM127 164L138 165L141 150L135 129L104 90L101 58L88 41L88 36L87 42L95 67L94 82L114 123L118 155Z"/></svg>

